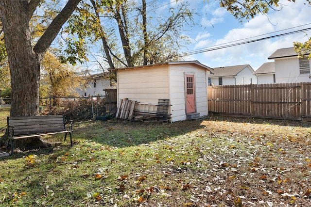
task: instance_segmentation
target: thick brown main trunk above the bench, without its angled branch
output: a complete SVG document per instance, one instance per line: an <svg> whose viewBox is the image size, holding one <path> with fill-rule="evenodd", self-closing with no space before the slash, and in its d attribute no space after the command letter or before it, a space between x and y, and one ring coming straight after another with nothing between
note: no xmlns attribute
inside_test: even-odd
<svg viewBox="0 0 311 207"><path fill-rule="evenodd" d="M40 58L31 46L29 16L24 1L0 1L6 52L9 58L12 104L11 116L38 114ZM18 15L16 15L18 14ZM10 22L10 23L6 23ZM9 32L8 32L9 31Z"/></svg>

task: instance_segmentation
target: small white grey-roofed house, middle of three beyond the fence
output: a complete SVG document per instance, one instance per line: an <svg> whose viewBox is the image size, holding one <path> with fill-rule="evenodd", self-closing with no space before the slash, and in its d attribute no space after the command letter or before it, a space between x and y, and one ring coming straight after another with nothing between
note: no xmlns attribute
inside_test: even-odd
<svg viewBox="0 0 311 207"><path fill-rule="evenodd" d="M276 82L276 70L274 62L262 64L254 74L257 76L257 84L267 84Z"/></svg>

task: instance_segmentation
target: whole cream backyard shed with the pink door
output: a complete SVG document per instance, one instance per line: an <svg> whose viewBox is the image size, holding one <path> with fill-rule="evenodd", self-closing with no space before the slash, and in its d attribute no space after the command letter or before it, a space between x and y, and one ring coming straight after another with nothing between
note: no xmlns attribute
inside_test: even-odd
<svg viewBox="0 0 311 207"><path fill-rule="evenodd" d="M158 99L169 99L171 122L186 120L187 115L208 114L207 76L212 68L198 61L170 62L117 71L117 101L157 104Z"/></svg>

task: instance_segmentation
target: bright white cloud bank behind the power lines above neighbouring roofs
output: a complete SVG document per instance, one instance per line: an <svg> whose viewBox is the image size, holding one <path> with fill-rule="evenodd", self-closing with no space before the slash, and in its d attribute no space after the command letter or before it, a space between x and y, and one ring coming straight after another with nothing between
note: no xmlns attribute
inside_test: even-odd
<svg viewBox="0 0 311 207"><path fill-rule="evenodd" d="M281 11L270 13L267 16L256 16L254 19L251 19L250 21L244 23L241 28L231 28L231 25L226 24L226 21L228 21L228 18L230 18L229 16L225 16L226 11L224 12L223 10L215 10L214 18L211 18L209 21L206 18L202 18L202 23L205 23L205 26L207 26L208 24L217 24L224 21L223 24L226 24L226 26L228 27L228 31L221 38L218 38L219 33L213 30L211 30L208 35L206 35L206 37L199 33L196 39L200 41L195 45L195 48L198 49L224 43L230 43L249 37L254 37L254 39L258 39L263 37L258 36L261 34L267 34L266 36L272 36L280 33L295 31L302 28L293 27L309 23L310 7L303 4L303 0L297 0L295 3L288 2L287 0L282 0L281 2L284 4ZM206 7L205 9L210 9L210 7ZM225 19L221 19L223 16L225 16ZM307 27L310 27L310 25L305 26L305 28ZM285 30L288 28L293 29ZM281 32L271 33L276 31ZM204 53L203 56L205 59L210 60L210 63L207 65L213 67L236 64L251 64L254 69L257 69L264 62L271 61L267 58L276 49L293 47L294 41L306 41L307 38L304 37L304 35L304 33L297 33L264 41L244 44L241 46L213 50Z"/></svg>

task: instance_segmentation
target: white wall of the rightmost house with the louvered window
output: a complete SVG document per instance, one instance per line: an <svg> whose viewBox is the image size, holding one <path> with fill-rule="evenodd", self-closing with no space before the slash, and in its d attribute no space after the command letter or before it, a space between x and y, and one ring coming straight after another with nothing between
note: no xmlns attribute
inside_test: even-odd
<svg viewBox="0 0 311 207"><path fill-rule="evenodd" d="M310 64L311 65L311 64ZM300 74L299 59L280 58L275 59L276 68L276 83L295 83L295 82L310 82L310 74Z"/></svg>

